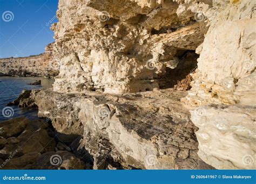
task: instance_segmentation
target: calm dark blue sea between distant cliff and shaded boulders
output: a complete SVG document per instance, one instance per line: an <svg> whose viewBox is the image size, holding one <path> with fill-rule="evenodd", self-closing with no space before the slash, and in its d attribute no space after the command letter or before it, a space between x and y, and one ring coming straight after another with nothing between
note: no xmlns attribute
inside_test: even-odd
<svg viewBox="0 0 256 184"><path fill-rule="evenodd" d="M41 85L28 85L36 80L42 80ZM37 119L37 110L28 110L17 106L6 106L7 103L15 100L22 90L51 88L54 79L41 77L0 77L0 122L16 117L27 117Z"/></svg>

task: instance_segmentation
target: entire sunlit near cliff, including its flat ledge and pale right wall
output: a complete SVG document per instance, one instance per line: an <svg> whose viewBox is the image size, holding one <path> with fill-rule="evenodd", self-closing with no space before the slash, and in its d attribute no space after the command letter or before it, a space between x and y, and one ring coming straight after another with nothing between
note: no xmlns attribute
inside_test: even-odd
<svg viewBox="0 0 256 184"><path fill-rule="evenodd" d="M255 169L255 4L60 0L39 116L95 169Z"/></svg>

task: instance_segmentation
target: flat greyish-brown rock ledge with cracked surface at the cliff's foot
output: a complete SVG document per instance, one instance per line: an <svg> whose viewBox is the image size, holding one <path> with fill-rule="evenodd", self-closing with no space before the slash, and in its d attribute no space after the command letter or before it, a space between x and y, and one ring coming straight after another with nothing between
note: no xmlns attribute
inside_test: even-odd
<svg viewBox="0 0 256 184"><path fill-rule="evenodd" d="M57 132L83 137L79 147L91 155L93 169L214 169L197 154L198 128L180 103L185 95L43 90L35 101L39 117L50 118Z"/></svg>

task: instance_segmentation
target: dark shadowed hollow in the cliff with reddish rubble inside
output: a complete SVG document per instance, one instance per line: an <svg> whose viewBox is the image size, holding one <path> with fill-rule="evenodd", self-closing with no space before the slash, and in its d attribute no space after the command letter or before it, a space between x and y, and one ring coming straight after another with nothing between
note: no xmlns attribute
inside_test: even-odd
<svg viewBox="0 0 256 184"><path fill-rule="evenodd" d="M197 69L197 59L199 57L195 51L180 50L177 59L179 61L176 68L166 67L166 73L159 79L161 89L174 88L174 90L186 91L191 88L191 74Z"/></svg>

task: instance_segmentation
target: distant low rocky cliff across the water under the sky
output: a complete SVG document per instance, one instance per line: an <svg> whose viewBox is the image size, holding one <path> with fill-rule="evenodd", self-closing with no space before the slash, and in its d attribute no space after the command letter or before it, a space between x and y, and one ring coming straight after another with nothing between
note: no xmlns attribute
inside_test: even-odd
<svg viewBox="0 0 256 184"><path fill-rule="evenodd" d="M0 59L0 76L39 76L53 78L59 73L59 63L53 58L53 44L37 56Z"/></svg>

